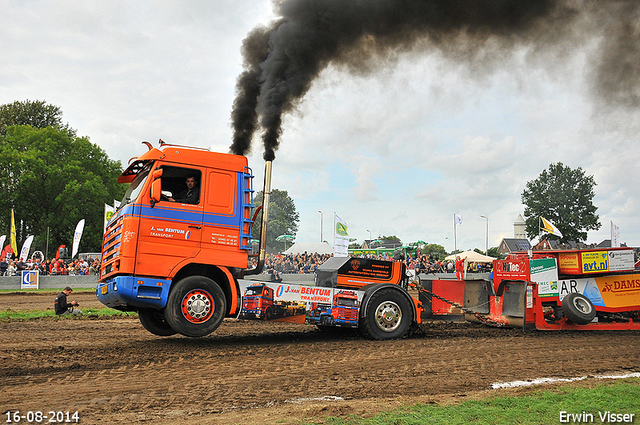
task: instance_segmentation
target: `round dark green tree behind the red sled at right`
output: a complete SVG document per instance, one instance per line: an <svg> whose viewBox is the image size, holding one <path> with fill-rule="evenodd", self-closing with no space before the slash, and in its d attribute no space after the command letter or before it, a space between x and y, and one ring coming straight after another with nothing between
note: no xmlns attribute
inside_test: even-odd
<svg viewBox="0 0 640 425"><path fill-rule="evenodd" d="M602 226L598 207L593 205L595 186L593 176L585 175L580 167L571 169L561 162L549 165L537 179L527 182L522 192L527 236L538 235L539 219L544 217L562 232L561 241L585 241L587 230Z"/></svg>

